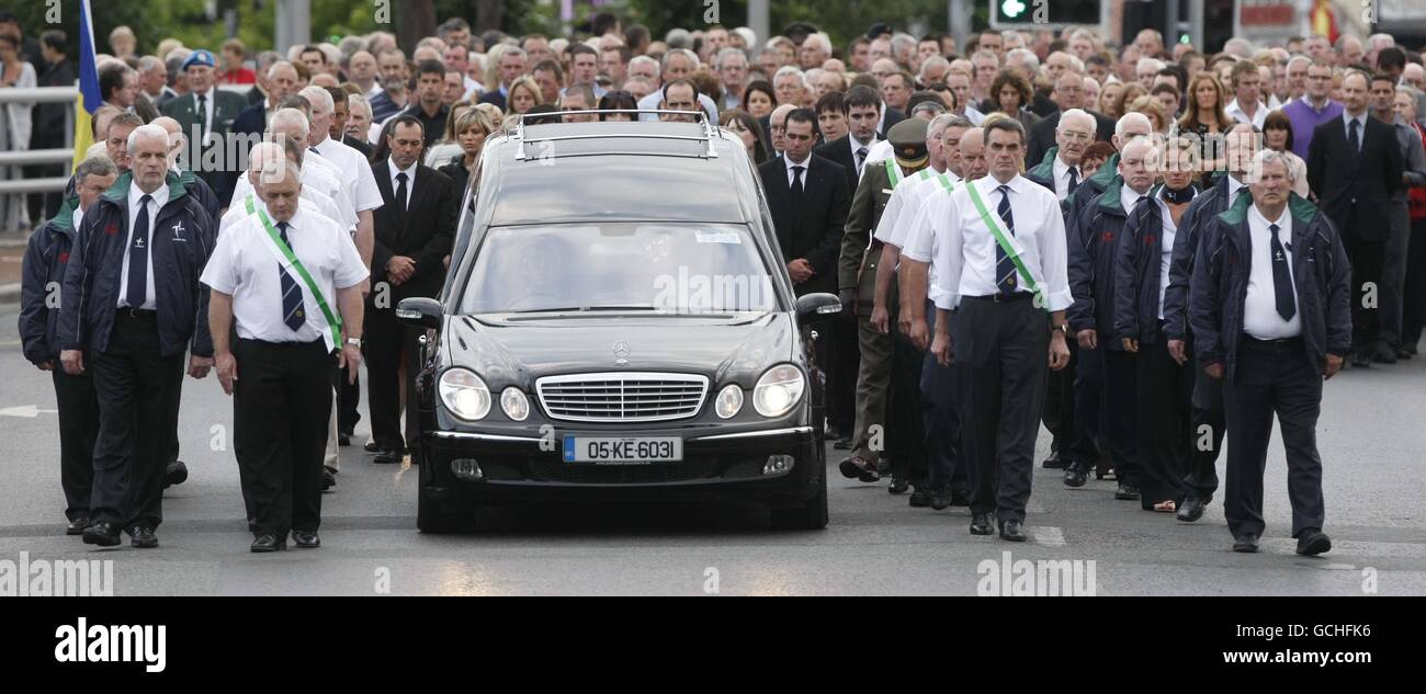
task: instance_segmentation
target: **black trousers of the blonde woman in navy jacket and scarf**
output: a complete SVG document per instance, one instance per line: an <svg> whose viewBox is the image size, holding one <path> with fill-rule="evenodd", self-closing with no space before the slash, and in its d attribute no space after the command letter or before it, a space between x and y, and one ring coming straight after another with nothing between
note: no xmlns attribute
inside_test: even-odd
<svg viewBox="0 0 1426 694"><path fill-rule="evenodd" d="M1139 342L1138 366L1138 452L1139 503L1152 509L1159 502L1184 503L1184 476L1189 460L1192 428L1194 363L1182 366L1168 353L1168 339Z"/></svg>

